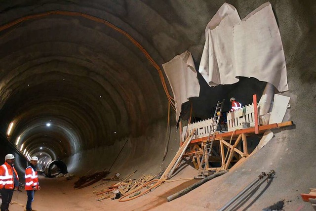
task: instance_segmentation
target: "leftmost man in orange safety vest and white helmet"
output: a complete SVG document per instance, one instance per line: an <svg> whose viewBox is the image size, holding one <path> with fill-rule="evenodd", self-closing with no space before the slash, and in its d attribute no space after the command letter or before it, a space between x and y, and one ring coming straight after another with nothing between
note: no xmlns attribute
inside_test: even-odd
<svg viewBox="0 0 316 211"><path fill-rule="evenodd" d="M14 169L14 155L7 154L5 162L0 166L1 211L9 211L14 187L19 187L19 176Z"/></svg>

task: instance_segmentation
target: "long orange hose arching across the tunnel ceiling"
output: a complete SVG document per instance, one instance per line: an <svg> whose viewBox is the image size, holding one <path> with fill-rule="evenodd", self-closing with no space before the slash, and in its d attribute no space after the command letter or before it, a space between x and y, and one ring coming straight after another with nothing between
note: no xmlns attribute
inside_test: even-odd
<svg viewBox="0 0 316 211"><path fill-rule="evenodd" d="M109 21L106 21L104 19L101 18L97 18L82 12L71 12L71 11L61 11L61 10L54 10L54 11L48 11L48 12L43 12L43 13L39 13L39 14L35 14L35 15L28 15L28 16L24 16L21 17L15 21L12 21L10 23L7 23L5 25L0 26L0 31L3 31L7 28L10 28L16 24L19 24L23 21L26 20L31 20L31 19L38 19L38 18L43 18L45 16L48 15L66 15L66 16L81 16L84 17L86 19L98 22L98 23L103 23L105 25L107 25L108 27L116 30L118 33L124 35L126 38L128 38L135 46L137 46L142 52L143 54L146 56L146 58L148 59L148 61L152 64L152 66L158 71L159 74L159 78L163 87L163 90L168 98L168 101L170 102L172 108L175 110L175 102L173 97L169 94L168 91L168 87L167 84L164 80L164 76L163 73L159 67L159 65L157 64L157 62L150 56L150 54L147 52L147 50L139 43L137 42L132 36L130 36L127 32L125 32L124 30L118 28L117 26L115 26L114 24L110 23Z"/></svg>

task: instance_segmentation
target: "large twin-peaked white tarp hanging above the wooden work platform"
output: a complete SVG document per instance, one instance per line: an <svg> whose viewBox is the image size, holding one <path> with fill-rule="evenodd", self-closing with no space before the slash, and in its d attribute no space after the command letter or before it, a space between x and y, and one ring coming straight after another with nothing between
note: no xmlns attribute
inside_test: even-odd
<svg viewBox="0 0 316 211"><path fill-rule="evenodd" d="M205 33L199 72L210 86L234 84L242 76L288 90L283 46L270 2L242 21L236 8L224 3Z"/></svg>

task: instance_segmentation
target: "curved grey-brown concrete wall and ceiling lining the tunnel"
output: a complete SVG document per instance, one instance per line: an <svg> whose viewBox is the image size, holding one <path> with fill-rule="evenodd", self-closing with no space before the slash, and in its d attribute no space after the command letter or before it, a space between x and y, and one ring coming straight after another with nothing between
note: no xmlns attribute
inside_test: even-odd
<svg viewBox="0 0 316 211"><path fill-rule="evenodd" d="M185 50L192 52L198 66L205 26L224 2L16 0L0 3L0 25L52 10L82 12L129 33L160 67ZM243 18L265 1L226 2ZM291 97L291 108L285 119L294 121L296 127L278 130L266 147L243 164L244 171L223 178L243 184L253 178L253 171L274 168L282 179L267 191L289 196L290 189L303 192L316 182L312 176L316 158L316 4L312 0L270 2L287 65L290 90L284 95ZM113 171L159 170L166 141L167 99L157 70L126 37L83 17L49 15L4 29L0 38L0 128L6 132L8 124L17 121L12 142L21 135L30 153L39 153L43 147L43 152L64 160L70 170L80 174L109 168L129 139ZM261 95L265 85L242 79L210 88L200 75L198 78L201 94L193 103L195 115L202 118L212 115L209 108L217 100L236 96L247 104L252 94ZM229 103L225 106L227 110ZM52 126L46 127L47 122ZM171 125L169 153L162 166L172 159L179 143L174 119ZM234 185L231 188L233 196ZM220 195L220 189L214 191L223 200L231 197ZM274 198L266 200L273 202Z"/></svg>

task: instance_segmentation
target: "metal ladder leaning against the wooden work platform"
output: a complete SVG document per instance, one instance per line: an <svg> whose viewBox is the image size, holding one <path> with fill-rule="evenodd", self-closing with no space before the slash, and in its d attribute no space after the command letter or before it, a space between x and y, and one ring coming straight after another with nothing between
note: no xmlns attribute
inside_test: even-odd
<svg viewBox="0 0 316 211"><path fill-rule="evenodd" d="M208 164L209 157L212 156L211 150L212 150L213 142L215 140L215 132L216 132L216 129L217 129L217 126L219 123L219 119L220 119L221 114L222 114L222 108L223 108L224 101L225 101L224 99L223 99L223 102L221 102L221 103L219 101L217 101L215 114L214 114L213 121L212 121L212 124L210 127L210 131L208 133L208 138L207 138L207 141L205 144L202 159L201 159L201 162L200 162L200 165L198 168L198 174L195 177L196 179L205 178L205 173L208 172L206 167L208 166L207 164ZM210 141L211 134L213 134L213 136L212 136L212 140Z"/></svg>

